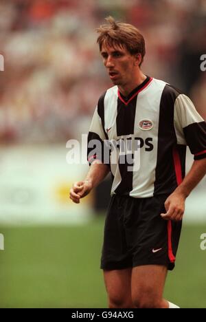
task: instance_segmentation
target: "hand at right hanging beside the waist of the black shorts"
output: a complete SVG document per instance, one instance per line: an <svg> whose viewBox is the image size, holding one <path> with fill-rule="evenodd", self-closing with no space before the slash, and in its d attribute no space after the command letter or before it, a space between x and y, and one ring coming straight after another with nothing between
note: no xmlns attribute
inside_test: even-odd
<svg viewBox="0 0 206 322"><path fill-rule="evenodd" d="M165 201L167 213L161 213L161 217L165 220L174 220L175 222L182 220L185 212L185 199L181 193L172 193Z"/></svg>

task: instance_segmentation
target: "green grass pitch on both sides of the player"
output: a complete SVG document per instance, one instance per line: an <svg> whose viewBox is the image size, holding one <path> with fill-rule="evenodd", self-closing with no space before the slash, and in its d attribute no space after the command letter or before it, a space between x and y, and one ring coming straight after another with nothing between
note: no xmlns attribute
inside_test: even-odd
<svg viewBox="0 0 206 322"><path fill-rule="evenodd" d="M100 270L104 219L82 226L0 228L0 308L106 308ZM165 297L206 308L206 224L184 226Z"/></svg>

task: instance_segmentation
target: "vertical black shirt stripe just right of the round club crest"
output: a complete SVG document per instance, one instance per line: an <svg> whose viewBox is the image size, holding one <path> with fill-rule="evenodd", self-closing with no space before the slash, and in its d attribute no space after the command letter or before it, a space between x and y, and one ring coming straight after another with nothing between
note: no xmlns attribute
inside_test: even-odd
<svg viewBox="0 0 206 322"><path fill-rule="evenodd" d="M170 85L165 85L161 96L154 195L171 193L177 186L173 148L176 147L174 102L179 94Z"/></svg>

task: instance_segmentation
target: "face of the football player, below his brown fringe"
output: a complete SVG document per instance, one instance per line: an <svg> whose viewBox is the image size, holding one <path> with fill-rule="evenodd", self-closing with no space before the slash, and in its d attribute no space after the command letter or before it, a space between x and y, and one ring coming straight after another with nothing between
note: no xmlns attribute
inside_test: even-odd
<svg viewBox="0 0 206 322"><path fill-rule="evenodd" d="M139 54L131 55L126 47L107 47L104 43L101 55L114 85L125 86L133 80L141 55L139 58Z"/></svg>

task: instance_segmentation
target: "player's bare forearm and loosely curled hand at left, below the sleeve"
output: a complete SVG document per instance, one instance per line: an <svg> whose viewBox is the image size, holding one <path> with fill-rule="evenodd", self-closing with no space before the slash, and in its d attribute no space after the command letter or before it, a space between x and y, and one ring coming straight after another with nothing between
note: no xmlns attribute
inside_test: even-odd
<svg viewBox="0 0 206 322"><path fill-rule="evenodd" d="M70 199L76 204L80 203L80 198L85 197L90 191L102 182L109 172L109 167L102 164L99 160L95 160L87 173L84 181L76 182L70 190Z"/></svg>

